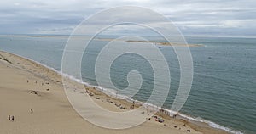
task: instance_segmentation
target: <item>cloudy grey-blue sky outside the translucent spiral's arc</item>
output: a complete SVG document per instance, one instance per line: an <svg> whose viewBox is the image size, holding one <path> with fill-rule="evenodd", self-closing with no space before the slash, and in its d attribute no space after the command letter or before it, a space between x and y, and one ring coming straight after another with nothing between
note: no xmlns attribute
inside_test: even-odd
<svg viewBox="0 0 256 134"><path fill-rule="evenodd" d="M163 14L184 36L256 36L255 0L8 0L0 2L0 34L69 35L89 16L127 5Z"/></svg>

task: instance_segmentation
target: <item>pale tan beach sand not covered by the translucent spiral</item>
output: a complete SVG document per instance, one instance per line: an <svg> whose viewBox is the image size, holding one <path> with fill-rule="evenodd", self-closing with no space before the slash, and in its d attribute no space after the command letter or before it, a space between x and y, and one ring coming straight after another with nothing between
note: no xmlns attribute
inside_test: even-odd
<svg viewBox="0 0 256 134"><path fill-rule="evenodd" d="M55 71L14 54L0 52L0 74L0 134L226 133L203 123L173 119L161 113L158 116L164 118L163 123L148 120L125 130L102 128L84 120L73 109L64 92L61 75ZM102 108L120 111L114 103L121 104L125 110L131 106L131 103L109 98L93 88L87 89ZM9 115L15 120L9 120Z"/></svg>

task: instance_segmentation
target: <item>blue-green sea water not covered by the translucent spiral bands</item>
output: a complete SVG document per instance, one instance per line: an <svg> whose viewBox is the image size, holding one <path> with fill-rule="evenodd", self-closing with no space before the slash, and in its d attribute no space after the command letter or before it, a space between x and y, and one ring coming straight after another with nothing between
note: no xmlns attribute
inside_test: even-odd
<svg viewBox="0 0 256 134"><path fill-rule="evenodd" d="M160 40L154 37L150 39ZM215 127L256 133L256 39L186 37L186 40L205 47L190 47L194 81L181 113L195 120L212 121L216 123L211 123ZM0 36L0 49L61 70L66 42L67 36ZM93 41L85 51L82 61L84 82L97 84L94 64L97 54L106 43ZM166 109L170 109L179 84L179 64L172 47L163 46L160 51L171 69L171 92L164 104ZM113 62L113 84L120 89L127 87L126 76L131 70L139 71L143 77L142 88L133 98L147 100L153 89L154 72L148 61L136 54L127 53Z"/></svg>

